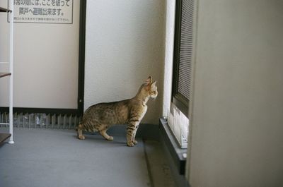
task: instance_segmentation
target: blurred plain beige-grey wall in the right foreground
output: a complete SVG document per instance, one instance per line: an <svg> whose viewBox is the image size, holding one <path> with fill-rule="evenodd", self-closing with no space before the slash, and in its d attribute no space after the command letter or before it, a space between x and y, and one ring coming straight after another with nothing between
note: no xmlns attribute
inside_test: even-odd
<svg viewBox="0 0 283 187"><path fill-rule="evenodd" d="M187 178L283 186L283 3L198 2Z"/></svg>

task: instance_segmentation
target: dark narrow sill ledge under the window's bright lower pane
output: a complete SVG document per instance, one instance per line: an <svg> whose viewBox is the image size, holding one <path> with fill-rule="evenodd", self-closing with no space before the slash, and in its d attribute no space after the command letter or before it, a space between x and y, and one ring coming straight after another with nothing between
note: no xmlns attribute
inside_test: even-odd
<svg viewBox="0 0 283 187"><path fill-rule="evenodd" d="M161 131L161 138L170 152L173 163L177 167L179 174L184 175L187 149L180 148L166 120L159 119L159 128Z"/></svg>

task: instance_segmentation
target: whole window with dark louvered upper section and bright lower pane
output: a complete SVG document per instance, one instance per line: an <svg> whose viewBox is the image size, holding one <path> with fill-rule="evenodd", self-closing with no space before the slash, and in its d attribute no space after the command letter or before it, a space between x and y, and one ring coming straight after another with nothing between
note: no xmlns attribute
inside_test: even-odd
<svg viewBox="0 0 283 187"><path fill-rule="evenodd" d="M192 85L193 0L177 0L175 5L175 36L171 111L168 123L180 147L187 147L189 102Z"/></svg>

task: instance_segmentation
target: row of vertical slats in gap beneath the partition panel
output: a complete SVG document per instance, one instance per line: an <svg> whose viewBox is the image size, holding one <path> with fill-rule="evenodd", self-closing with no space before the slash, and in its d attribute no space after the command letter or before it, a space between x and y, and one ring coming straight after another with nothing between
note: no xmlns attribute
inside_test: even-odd
<svg viewBox="0 0 283 187"><path fill-rule="evenodd" d="M0 113L0 127L7 127L8 113ZM81 116L67 114L13 114L13 126L22 128L67 128L74 129Z"/></svg>

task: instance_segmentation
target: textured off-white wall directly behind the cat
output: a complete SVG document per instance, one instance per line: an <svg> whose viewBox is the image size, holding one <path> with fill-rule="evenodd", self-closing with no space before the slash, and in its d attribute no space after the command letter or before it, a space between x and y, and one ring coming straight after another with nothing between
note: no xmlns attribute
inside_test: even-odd
<svg viewBox="0 0 283 187"><path fill-rule="evenodd" d="M85 109L136 95L149 76L159 96L149 101L142 123L162 115L164 11L162 0L88 1L86 12Z"/></svg>

